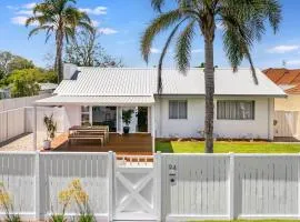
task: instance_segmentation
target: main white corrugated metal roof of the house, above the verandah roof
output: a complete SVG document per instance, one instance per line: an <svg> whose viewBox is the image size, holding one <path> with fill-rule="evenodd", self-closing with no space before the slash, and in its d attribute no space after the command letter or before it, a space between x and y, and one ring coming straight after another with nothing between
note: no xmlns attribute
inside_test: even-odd
<svg viewBox="0 0 300 222"><path fill-rule="evenodd" d="M153 95L157 93L156 68L78 68L76 80L63 80L54 91L58 95ZM284 92L257 70L259 84L250 69L216 69L216 95L284 97ZM176 69L163 69L162 94L204 94L203 69L192 68L187 74Z"/></svg>

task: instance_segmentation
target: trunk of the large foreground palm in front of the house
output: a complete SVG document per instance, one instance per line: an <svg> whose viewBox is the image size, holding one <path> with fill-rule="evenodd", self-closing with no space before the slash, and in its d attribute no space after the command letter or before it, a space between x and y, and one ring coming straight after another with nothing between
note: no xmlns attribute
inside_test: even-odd
<svg viewBox="0 0 300 222"><path fill-rule="evenodd" d="M214 67L213 67L213 39L206 39L206 153L213 153L213 94L214 94Z"/></svg>

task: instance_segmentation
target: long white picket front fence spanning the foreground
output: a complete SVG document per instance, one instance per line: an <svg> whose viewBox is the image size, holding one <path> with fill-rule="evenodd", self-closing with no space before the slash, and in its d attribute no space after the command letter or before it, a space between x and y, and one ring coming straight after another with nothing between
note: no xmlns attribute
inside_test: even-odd
<svg viewBox="0 0 300 222"><path fill-rule="evenodd" d="M146 190L137 193L134 189L142 183L131 189L124 180L132 193L123 199L132 195L132 201L137 198L142 202L149 196L157 221L300 218L299 154L157 153L152 168L128 168L122 172L130 172L127 176L133 181L141 179ZM16 212L27 219L60 212L59 191L80 179L98 221L112 221L118 213L116 201L124 202L122 196L116 198L116 191L120 195L123 188L116 186L121 176L116 169L112 152L0 153L0 180L12 194ZM149 173L153 170L152 189L146 186L150 174L143 178L143 169ZM149 192L154 192L154 201ZM128 209L134 204L127 201ZM67 215L77 214L71 205ZM129 215L136 216L134 212Z"/></svg>

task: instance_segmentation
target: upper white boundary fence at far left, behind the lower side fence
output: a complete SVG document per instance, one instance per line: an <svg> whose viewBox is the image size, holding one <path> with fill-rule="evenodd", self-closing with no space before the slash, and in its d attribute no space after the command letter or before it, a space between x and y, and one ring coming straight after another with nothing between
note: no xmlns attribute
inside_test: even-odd
<svg viewBox="0 0 300 222"><path fill-rule="evenodd" d="M23 97L23 98L0 100L0 112L24 108L24 107L32 107L36 100L41 100L48 97L51 97L51 94L46 93L46 94L40 94L40 95L34 95L34 97Z"/></svg>

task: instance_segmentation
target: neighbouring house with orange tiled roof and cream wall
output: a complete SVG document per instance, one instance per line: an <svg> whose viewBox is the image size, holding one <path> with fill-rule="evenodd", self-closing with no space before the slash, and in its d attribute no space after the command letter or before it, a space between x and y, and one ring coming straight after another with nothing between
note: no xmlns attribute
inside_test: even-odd
<svg viewBox="0 0 300 222"><path fill-rule="evenodd" d="M264 74L287 93L274 100L277 111L300 111L300 69L267 69Z"/></svg>

